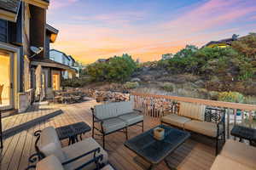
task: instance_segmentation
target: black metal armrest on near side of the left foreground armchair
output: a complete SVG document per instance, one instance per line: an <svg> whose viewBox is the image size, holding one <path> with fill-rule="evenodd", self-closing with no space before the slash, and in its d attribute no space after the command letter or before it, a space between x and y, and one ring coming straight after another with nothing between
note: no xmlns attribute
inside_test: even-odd
<svg viewBox="0 0 256 170"><path fill-rule="evenodd" d="M74 157L71 160L64 161L62 163L62 165L67 165L67 164L69 164L73 161L77 161L77 160L83 158L84 156L88 156L90 154L93 154L93 158L90 161L84 162L84 164L80 165L79 167L77 167L75 169L81 169L82 167L86 167L87 165L89 165L90 163L93 163L93 162L96 163L96 167L99 168L99 167L101 167L101 164L100 164L99 161L102 161L103 155L96 156L96 153L100 153L100 151L101 151L101 148L98 147L94 150L90 150L89 152L86 152L86 153L82 154L81 156L77 156L77 157Z"/></svg>

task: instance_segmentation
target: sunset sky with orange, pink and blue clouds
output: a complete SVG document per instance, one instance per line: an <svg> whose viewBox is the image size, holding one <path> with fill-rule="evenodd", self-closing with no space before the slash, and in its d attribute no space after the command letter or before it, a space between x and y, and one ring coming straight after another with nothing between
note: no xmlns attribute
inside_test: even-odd
<svg viewBox="0 0 256 170"><path fill-rule="evenodd" d="M256 0L50 0L51 48L84 63L123 53L160 59L186 44L256 32Z"/></svg>

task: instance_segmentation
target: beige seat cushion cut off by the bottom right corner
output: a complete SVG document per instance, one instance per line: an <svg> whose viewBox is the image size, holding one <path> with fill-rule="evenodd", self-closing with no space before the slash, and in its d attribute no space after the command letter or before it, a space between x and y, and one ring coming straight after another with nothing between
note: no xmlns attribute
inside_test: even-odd
<svg viewBox="0 0 256 170"><path fill-rule="evenodd" d="M211 170L255 170L256 148L228 139L216 157Z"/></svg>

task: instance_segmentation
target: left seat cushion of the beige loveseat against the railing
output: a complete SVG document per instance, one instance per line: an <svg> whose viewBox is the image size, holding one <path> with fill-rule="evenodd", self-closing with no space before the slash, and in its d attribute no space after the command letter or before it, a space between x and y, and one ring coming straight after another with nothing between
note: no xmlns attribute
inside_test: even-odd
<svg viewBox="0 0 256 170"><path fill-rule="evenodd" d="M161 117L161 122L166 122L168 124L182 128L184 127L184 123L189 121L191 121L191 119L188 117L178 116L176 114L169 114Z"/></svg>

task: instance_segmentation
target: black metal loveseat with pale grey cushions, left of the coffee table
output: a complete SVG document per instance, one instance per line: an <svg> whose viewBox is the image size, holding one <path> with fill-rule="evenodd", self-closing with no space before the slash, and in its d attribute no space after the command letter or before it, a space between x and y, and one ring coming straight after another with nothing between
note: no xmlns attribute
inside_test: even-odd
<svg viewBox="0 0 256 170"><path fill-rule="evenodd" d="M133 101L114 102L104 105L95 105L92 111L92 137L95 130L101 133L103 148L105 149L105 136L122 130L128 139L128 127L142 123L141 111L133 109Z"/></svg>

